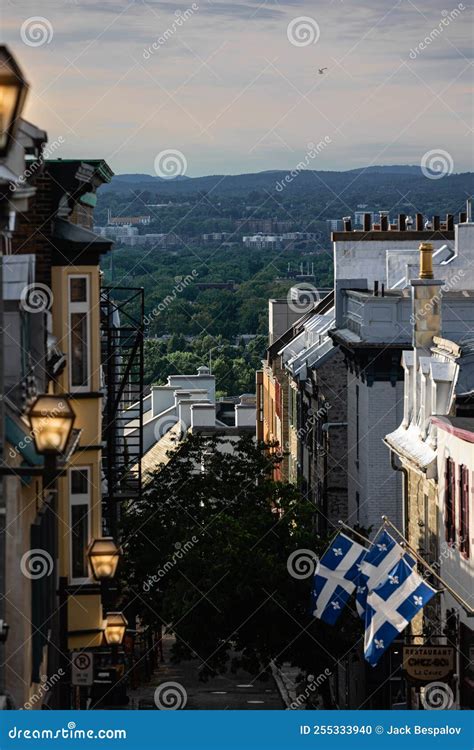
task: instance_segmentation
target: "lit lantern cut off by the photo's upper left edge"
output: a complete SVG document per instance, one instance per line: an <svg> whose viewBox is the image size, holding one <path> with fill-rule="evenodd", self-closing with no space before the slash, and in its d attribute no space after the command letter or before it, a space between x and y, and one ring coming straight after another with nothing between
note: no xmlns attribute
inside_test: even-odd
<svg viewBox="0 0 474 750"><path fill-rule="evenodd" d="M0 46L0 156L5 156L18 127L28 92L21 68L8 47Z"/></svg>

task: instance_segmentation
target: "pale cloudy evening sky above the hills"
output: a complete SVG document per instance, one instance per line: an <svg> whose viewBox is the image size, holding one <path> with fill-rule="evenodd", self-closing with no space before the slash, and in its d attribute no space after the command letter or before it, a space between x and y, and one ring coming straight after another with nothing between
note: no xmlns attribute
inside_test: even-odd
<svg viewBox="0 0 474 750"><path fill-rule="evenodd" d="M118 174L468 171L473 28L468 0L2 0L24 116Z"/></svg>

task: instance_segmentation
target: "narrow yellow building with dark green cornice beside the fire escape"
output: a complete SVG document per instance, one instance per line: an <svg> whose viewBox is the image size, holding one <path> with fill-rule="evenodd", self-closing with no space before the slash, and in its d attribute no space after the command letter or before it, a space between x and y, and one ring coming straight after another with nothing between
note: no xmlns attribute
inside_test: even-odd
<svg viewBox="0 0 474 750"><path fill-rule="evenodd" d="M105 162L49 162L48 174L61 181L65 195L72 180L86 180L86 191L54 225L51 268L52 334L66 366L54 383L75 412L78 441L65 476L58 480L59 576L67 582L68 648L100 646L100 591L91 578L87 548L102 536L102 411L100 257L111 243L90 231L96 188L110 181ZM84 174L87 177L84 178ZM84 184L84 183L82 183ZM95 631L95 632L94 632Z"/></svg>

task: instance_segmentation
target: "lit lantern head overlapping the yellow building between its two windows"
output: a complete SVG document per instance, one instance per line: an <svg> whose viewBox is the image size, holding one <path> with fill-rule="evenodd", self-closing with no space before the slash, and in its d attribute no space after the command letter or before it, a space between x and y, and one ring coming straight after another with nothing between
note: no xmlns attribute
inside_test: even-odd
<svg viewBox="0 0 474 750"><path fill-rule="evenodd" d="M64 396L38 396L28 414L38 453L57 456L64 453L76 415Z"/></svg>

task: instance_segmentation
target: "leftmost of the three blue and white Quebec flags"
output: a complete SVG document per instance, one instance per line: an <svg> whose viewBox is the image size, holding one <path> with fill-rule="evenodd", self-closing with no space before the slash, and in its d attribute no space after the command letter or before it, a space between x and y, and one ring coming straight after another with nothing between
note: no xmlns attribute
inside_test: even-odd
<svg viewBox="0 0 474 750"><path fill-rule="evenodd" d="M320 558L314 574L313 615L329 625L339 619L356 587L360 565L367 550L339 533Z"/></svg>

